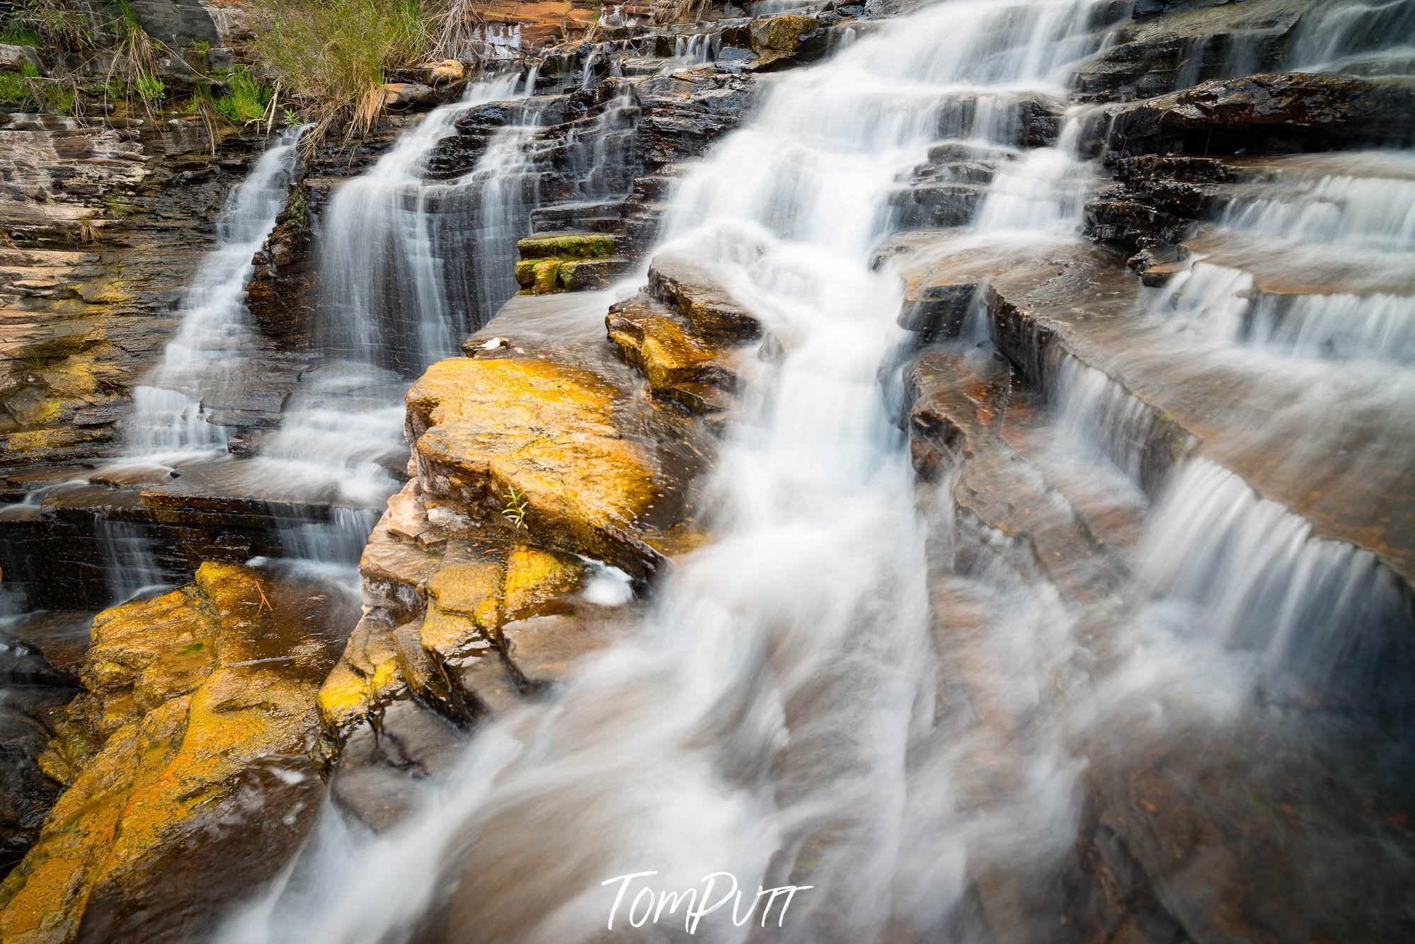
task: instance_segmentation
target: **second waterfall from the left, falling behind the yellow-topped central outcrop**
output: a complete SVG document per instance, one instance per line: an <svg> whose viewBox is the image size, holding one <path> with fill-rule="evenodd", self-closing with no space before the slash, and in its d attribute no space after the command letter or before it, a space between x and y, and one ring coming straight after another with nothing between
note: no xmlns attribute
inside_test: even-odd
<svg viewBox="0 0 1415 944"><path fill-rule="evenodd" d="M324 495L341 505L330 526L293 524L283 539L293 553L358 559L376 519L374 510L396 491L406 464L408 375L453 354L485 311L515 292L507 253L514 255L516 238L528 229L521 217L529 208L519 201L518 178L507 164L519 160L529 132L498 130L477 170L460 180L424 181L423 174L439 143L457 133L458 119L478 106L529 95L535 76L532 68L473 84L460 100L434 109L374 167L335 190L316 249L320 359L291 395L280 429L259 446L272 480L321 483ZM508 134L514 140L499 143ZM514 192L502 197L499 188ZM463 242L468 229L475 235ZM492 267L491 287L466 292L454 248L484 252L505 276Z"/></svg>

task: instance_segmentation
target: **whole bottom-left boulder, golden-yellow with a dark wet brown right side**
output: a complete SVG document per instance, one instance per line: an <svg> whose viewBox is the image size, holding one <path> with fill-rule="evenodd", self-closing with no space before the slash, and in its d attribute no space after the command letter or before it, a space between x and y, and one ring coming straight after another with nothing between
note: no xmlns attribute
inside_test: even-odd
<svg viewBox="0 0 1415 944"><path fill-rule="evenodd" d="M316 692L350 616L327 587L205 563L95 617L41 759L67 790L0 885L0 937L190 936L273 875L320 807Z"/></svg>

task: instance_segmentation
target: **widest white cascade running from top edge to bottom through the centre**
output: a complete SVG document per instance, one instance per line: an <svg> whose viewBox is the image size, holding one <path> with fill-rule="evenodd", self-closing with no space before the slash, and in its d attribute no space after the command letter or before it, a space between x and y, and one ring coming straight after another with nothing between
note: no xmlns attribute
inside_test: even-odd
<svg viewBox="0 0 1415 944"><path fill-rule="evenodd" d="M949 812L962 757L931 733L924 531L890 422L897 385L877 381L903 343L900 289L869 258L891 181L955 100L1060 92L1065 64L1098 42L1101 6L948 3L889 24L774 86L688 175L662 251L712 265L785 351L722 446L717 539L681 562L641 633L528 709L538 720L515 729L529 740L484 730L441 800L379 839L321 834L314 872L297 868L233 940L402 940L457 876L477 902L454 909L457 940L582 940L604 920L600 882L644 869L659 887L730 870L749 889L829 889L797 899L785 940L927 934L964 897L965 858L1034 862L1064 844L1074 764L1046 725L1007 761L1007 795ZM1010 144L999 112L955 130ZM1075 159L1049 157L1034 177L1070 181ZM999 225L1056 238L1075 202L1040 190ZM1017 638L1050 609L1027 599ZM1007 698L1036 706L1064 651L1019 645ZM924 835L935 845L917 848ZM727 920L699 931L747 936Z"/></svg>

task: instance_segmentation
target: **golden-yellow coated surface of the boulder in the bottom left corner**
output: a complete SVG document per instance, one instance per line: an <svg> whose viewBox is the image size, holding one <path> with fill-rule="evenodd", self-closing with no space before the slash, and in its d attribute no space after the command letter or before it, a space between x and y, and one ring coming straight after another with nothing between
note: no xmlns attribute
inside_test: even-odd
<svg viewBox="0 0 1415 944"><path fill-rule="evenodd" d="M269 658L307 633L276 618L273 593L253 570L204 563L181 590L95 617L86 691L47 756L69 785L0 885L0 940L74 940L91 896L139 894L253 761L308 749L327 662Z"/></svg>

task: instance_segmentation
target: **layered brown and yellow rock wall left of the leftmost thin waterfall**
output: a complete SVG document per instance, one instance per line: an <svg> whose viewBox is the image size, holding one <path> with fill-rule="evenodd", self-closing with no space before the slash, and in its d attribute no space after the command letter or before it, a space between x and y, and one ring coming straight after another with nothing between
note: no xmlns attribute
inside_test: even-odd
<svg viewBox="0 0 1415 944"><path fill-rule="evenodd" d="M10 115L0 200L0 464L110 454L161 357L225 192L258 142L218 159L198 120Z"/></svg>

